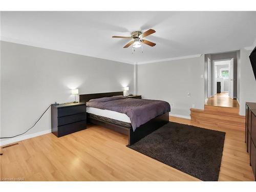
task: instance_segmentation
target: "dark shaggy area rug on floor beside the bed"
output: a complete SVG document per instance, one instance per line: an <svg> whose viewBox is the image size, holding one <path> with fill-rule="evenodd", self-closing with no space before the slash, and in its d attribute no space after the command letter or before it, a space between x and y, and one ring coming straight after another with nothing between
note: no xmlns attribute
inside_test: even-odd
<svg viewBox="0 0 256 192"><path fill-rule="evenodd" d="M169 122L128 146L203 181L218 181L225 132Z"/></svg>

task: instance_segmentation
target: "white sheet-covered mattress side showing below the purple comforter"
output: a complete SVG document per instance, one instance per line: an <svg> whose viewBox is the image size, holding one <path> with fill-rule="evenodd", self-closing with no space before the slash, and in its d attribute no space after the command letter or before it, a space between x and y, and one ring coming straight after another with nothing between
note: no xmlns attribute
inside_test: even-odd
<svg viewBox="0 0 256 192"><path fill-rule="evenodd" d="M98 109L98 108L87 107L86 112L87 113L92 113L94 115L99 115L99 116L102 116L102 117L108 117L110 119L115 119L115 120L118 120L118 121L131 123L131 119L126 114L119 113L119 112L116 112L116 111L101 110L101 109Z"/></svg>

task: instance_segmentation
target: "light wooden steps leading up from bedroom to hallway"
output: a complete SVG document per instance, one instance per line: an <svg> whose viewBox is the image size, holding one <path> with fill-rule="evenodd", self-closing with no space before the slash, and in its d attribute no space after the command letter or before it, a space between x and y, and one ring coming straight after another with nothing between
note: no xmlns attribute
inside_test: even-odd
<svg viewBox="0 0 256 192"><path fill-rule="evenodd" d="M207 108L207 110L190 109L192 121L198 123L211 123L218 127L230 127L236 130L244 130L245 116L241 116L236 111L226 111L226 109Z"/></svg>

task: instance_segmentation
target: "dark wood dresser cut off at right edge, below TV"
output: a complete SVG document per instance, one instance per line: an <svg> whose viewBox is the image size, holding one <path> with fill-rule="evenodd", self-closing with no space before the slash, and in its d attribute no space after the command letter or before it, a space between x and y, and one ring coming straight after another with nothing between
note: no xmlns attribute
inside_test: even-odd
<svg viewBox="0 0 256 192"><path fill-rule="evenodd" d="M250 155L250 165L256 181L256 103L245 105L245 142Z"/></svg>

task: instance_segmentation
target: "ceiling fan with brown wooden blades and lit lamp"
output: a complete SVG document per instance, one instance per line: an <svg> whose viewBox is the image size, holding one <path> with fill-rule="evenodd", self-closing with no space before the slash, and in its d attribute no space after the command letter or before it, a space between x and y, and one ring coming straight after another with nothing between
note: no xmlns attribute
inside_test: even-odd
<svg viewBox="0 0 256 192"><path fill-rule="evenodd" d="M132 44L133 44L133 48L139 48L139 47L141 47L140 42L142 42L143 44L146 44L148 46L154 47L156 45L154 42L151 42L151 41L148 41L148 40L145 40L142 38L144 38L148 35L151 35L155 32L156 31L154 29L148 29L144 33L140 32L140 31L134 31L134 32L132 32L131 37L123 37L123 36L112 36L112 37L113 38L133 39L128 44L126 44L123 48L130 47Z"/></svg>

